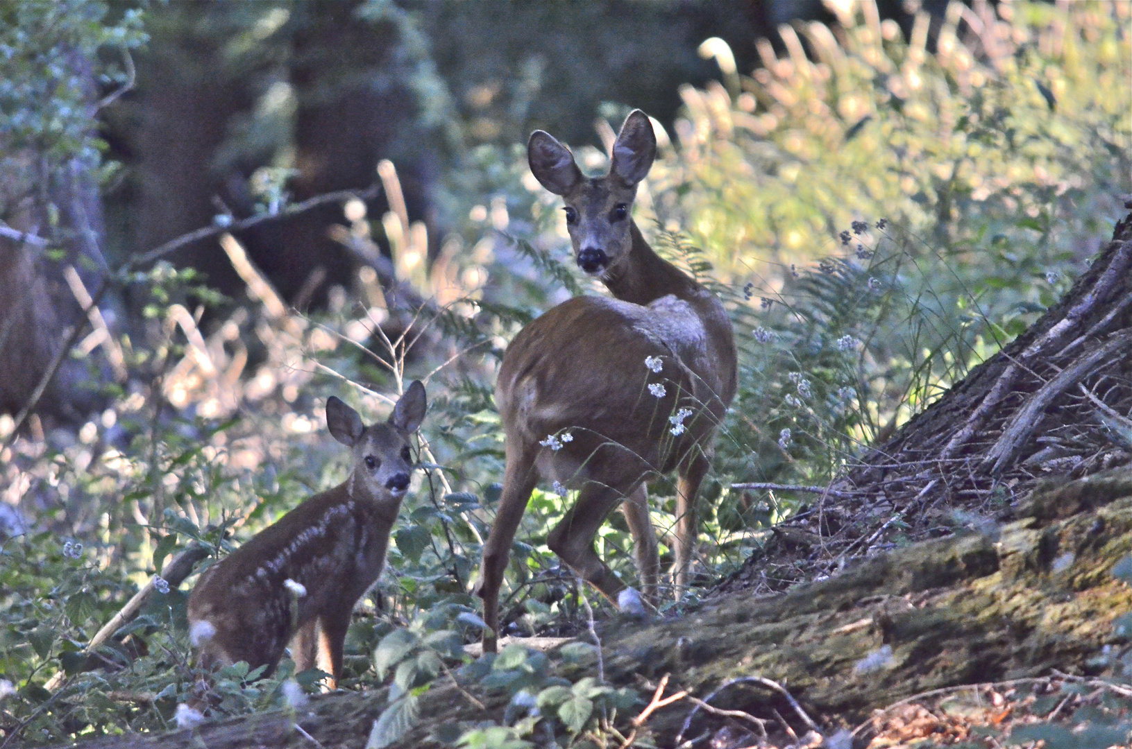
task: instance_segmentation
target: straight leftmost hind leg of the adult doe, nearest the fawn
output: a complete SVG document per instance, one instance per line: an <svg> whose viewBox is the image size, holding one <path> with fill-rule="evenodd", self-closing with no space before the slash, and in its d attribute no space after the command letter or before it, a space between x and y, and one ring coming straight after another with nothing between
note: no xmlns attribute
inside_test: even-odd
<svg viewBox="0 0 1132 749"><path fill-rule="evenodd" d="M483 559L480 562L480 578L475 583L475 595L483 600L483 652L495 653L499 634L499 586L507 570L511 558L511 543L515 540L520 520L526 510L526 501L538 482L534 472L534 460L529 456L518 459L507 456L507 468L504 473L503 494L496 510L491 533L483 543Z"/></svg>

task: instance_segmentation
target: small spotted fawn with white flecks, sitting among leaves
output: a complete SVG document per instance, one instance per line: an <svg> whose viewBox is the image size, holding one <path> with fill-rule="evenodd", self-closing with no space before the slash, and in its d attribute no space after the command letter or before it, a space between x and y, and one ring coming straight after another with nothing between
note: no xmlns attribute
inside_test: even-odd
<svg viewBox="0 0 1132 749"><path fill-rule="evenodd" d="M385 565L413 470L409 437L424 407L420 382L387 422L370 427L342 401L326 402L326 425L352 448L353 470L200 576L189 596L189 636L203 665L247 661L269 675L291 642L297 671L318 666L336 688L350 614Z"/></svg>

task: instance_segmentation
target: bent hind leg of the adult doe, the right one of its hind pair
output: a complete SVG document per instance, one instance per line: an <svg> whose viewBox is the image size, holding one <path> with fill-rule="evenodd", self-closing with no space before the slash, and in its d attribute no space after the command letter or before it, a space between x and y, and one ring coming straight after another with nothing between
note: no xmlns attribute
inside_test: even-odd
<svg viewBox="0 0 1132 749"><path fill-rule="evenodd" d="M623 497L611 487L586 483L578 492L577 502L547 536L550 550L614 605L618 605L617 594L625 589L625 584L598 557L593 537Z"/></svg>

